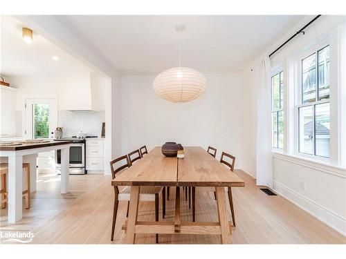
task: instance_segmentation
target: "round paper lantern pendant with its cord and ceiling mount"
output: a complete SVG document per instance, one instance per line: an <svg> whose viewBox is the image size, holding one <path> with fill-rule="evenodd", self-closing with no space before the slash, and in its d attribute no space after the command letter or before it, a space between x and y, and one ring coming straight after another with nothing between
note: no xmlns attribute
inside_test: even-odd
<svg viewBox="0 0 346 259"><path fill-rule="evenodd" d="M183 32L185 24L176 26ZM207 80L199 71L181 66L181 44L179 42L179 67L158 74L153 83L156 95L170 102L190 102L197 99L207 87Z"/></svg>

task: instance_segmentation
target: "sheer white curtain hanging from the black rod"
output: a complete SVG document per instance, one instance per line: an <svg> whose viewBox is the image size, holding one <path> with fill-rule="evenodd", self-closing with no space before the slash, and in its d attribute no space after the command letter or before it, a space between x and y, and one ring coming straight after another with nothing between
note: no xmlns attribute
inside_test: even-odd
<svg viewBox="0 0 346 259"><path fill-rule="evenodd" d="M256 184L273 187L271 157L271 61L262 57L253 66L256 93Z"/></svg>

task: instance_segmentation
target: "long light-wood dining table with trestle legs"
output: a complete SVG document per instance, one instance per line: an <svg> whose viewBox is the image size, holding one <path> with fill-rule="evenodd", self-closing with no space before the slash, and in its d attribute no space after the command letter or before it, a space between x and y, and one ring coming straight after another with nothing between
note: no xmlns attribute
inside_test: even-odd
<svg viewBox="0 0 346 259"><path fill-rule="evenodd" d="M222 165L200 146L184 147L185 158L165 157L156 147L111 181L112 186L131 186L129 218L125 222L126 242L134 244L137 233L220 235L230 244L235 229L227 216L225 187L244 187L244 180ZM138 221L140 186L175 186L174 221ZM183 222L180 187L215 187L218 222Z"/></svg>

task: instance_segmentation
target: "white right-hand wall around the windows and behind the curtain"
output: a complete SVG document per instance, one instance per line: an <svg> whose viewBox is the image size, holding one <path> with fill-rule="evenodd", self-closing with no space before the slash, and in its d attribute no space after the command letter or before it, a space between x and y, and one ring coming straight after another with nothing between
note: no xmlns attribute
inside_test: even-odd
<svg viewBox="0 0 346 259"><path fill-rule="evenodd" d="M335 47L336 26L343 21L343 17L322 16L314 22L307 30L304 37L300 36L291 41L287 46L282 48L271 59L271 66L282 66L287 69L288 59L297 55L302 50L307 50L312 44L318 43L321 39L330 38L331 48ZM273 46L268 48L262 55L268 55L275 47L280 46L282 42L291 37L305 23L311 20L307 17L302 23L292 28L282 39L275 42ZM334 45L334 46L333 46ZM335 51L335 50L334 50ZM332 51L331 51L332 52ZM335 52L334 52L335 54ZM332 55L332 54L331 54ZM332 57L331 57L332 59ZM334 59L335 65L335 59ZM333 66L331 66L332 69ZM335 68L335 66L334 66ZM335 71L334 71L335 72ZM331 71L331 106L338 106L338 96L335 95L335 89L338 84L335 84L337 79L335 73ZM337 73L336 73L337 75ZM285 79L286 80L286 79ZM333 85L334 81L334 85ZM242 115L242 169L253 175L255 178L255 162L256 162L256 141L255 141L255 87L251 84L251 64L242 73L243 82L243 115ZM287 81L285 81L287 86ZM345 85L343 86L345 87ZM284 97L284 103L287 99ZM294 111L293 111L294 112ZM341 112L341 111L340 111ZM290 110L291 113L291 110ZM335 110L331 110L331 117L334 125L337 123L337 117L334 114ZM286 113L287 115L287 113ZM334 119L333 119L334 118ZM288 119L288 117L285 117ZM293 125L291 121L290 125ZM294 128L293 128L294 129ZM335 128L334 128L335 130ZM291 131L291 133L294 131ZM287 131L285 131L287 135ZM345 131L341 131L340 135L344 135ZM292 134L291 134L292 135ZM338 133L336 132L336 135ZM335 135L334 135L335 136ZM273 155L273 189L291 200L305 211L311 213L316 218L319 218L332 228L346 236L346 170L335 166L334 160L331 164L334 166L326 166L320 163L302 160L294 155L292 147L294 140L289 140L289 149L284 155ZM334 141L334 145L336 145ZM345 146L340 148L345 149ZM334 148L336 149L336 148ZM342 163L339 162L339 166Z"/></svg>

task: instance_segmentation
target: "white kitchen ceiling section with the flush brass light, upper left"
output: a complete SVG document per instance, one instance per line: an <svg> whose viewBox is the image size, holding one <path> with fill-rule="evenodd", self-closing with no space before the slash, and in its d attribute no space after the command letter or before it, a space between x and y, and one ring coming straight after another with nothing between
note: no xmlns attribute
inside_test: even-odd
<svg viewBox="0 0 346 259"><path fill-rule="evenodd" d="M26 44L21 38L20 21L1 16L1 75L7 76L60 76L68 73L91 71L80 61L55 44L33 32L33 42ZM53 61L52 56L60 58Z"/></svg>

